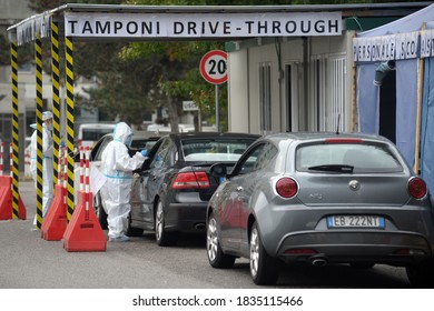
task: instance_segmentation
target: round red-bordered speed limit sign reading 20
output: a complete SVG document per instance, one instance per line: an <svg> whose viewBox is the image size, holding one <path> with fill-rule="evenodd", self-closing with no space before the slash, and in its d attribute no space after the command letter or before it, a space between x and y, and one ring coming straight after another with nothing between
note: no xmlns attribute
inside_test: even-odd
<svg viewBox="0 0 434 311"><path fill-rule="evenodd" d="M200 73L206 81L221 84L227 81L227 53L220 50L207 52L200 60Z"/></svg>

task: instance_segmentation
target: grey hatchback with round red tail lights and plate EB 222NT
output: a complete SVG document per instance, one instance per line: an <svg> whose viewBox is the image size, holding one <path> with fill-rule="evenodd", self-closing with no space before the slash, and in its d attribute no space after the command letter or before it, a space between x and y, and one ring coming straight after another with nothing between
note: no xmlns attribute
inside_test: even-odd
<svg viewBox="0 0 434 311"><path fill-rule="evenodd" d="M385 138L278 133L250 146L207 209L214 268L249 259L253 281L274 284L283 263L404 267L432 287L433 207L425 182Z"/></svg>

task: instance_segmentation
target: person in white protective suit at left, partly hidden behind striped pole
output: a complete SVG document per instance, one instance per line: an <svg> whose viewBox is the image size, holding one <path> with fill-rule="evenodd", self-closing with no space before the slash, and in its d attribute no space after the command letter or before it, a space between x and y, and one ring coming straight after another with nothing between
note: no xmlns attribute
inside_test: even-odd
<svg viewBox="0 0 434 311"><path fill-rule="evenodd" d="M51 205L53 197L53 168L52 168L52 112L42 112L42 218L46 217L48 209ZM31 136L30 140L30 174L37 188L37 131ZM33 224L37 220L34 217Z"/></svg>

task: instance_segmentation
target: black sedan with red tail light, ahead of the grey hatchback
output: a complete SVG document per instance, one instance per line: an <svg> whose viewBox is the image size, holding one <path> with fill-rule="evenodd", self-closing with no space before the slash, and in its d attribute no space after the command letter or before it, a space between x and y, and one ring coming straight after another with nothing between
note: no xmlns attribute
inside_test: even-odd
<svg viewBox="0 0 434 311"><path fill-rule="evenodd" d="M178 233L205 237L206 208L220 180L208 174L216 162L231 167L259 136L171 133L162 137L132 181L128 235L155 231L159 245Z"/></svg>

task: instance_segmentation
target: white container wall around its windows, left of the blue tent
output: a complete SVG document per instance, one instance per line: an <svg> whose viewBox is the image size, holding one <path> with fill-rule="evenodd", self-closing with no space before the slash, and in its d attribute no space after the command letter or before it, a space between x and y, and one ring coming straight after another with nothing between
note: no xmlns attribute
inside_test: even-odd
<svg viewBox="0 0 434 311"><path fill-rule="evenodd" d="M344 36L337 37L312 37L307 44L300 38L284 39L282 43L275 43L270 40L264 43L257 39L257 44L250 48L241 48L228 53L228 97L229 97L229 131L241 131L264 134L260 131L260 107L259 107L259 64L262 62L270 63L272 81L272 132L283 132L287 128L287 81L285 80L285 66L295 64L297 72L293 72L293 130L317 130L318 126L316 107L310 104L313 91L313 80L310 70L307 70L307 77L304 74L304 46L307 47L307 59L322 58L323 69L327 70L327 61L334 58L343 59L343 77L345 89L337 90L344 98L344 118L345 130L351 129L352 124L352 61L348 60L346 51L351 51L352 34L344 32ZM280 58L278 58L280 53ZM351 58L351 56L349 56ZM310 63L308 64L310 66ZM298 80L297 80L298 78ZM329 77L323 77L323 91L332 90L324 88ZM307 90L305 89L307 88ZM294 93L294 91L297 91ZM336 90L334 90L336 91ZM307 99L305 100L305 94ZM322 97L322 96L320 96ZM322 98L323 104L331 106L327 102L328 96ZM333 109L326 108L329 114ZM324 107L323 107L324 110ZM323 116L319 116L323 118ZM332 120L332 121L331 121ZM331 122L336 122L337 118L328 116L327 127ZM323 121L322 121L323 122ZM324 124L326 121L324 121Z"/></svg>

